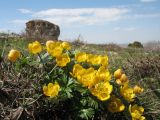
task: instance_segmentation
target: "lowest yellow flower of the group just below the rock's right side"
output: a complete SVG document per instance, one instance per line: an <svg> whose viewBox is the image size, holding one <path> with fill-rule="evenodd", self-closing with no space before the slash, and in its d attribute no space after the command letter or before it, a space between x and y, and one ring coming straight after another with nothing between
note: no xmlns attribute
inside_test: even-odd
<svg viewBox="0 0 160 120"><path fill-rule="evenodd" d="M56 58L57 65L64 67L70 62L70 57L66 54L62 54Z"/></svg>

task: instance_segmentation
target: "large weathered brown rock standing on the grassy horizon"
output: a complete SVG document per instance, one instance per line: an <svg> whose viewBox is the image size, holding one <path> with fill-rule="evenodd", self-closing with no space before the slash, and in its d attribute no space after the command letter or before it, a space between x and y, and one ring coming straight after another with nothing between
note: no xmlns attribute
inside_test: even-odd
<svg viewBox="0 0 160 120"><path fill-rule="evenodd" d="M58 40L60 28L45 20L31 20L26 23L26 37L32 40Z"/></svg>

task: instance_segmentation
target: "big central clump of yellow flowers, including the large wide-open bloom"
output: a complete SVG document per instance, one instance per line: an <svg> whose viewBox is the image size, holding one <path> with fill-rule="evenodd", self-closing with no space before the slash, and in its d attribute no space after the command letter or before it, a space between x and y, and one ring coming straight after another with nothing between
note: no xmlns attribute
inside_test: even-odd
<svg viewBox="0 0 160 120"><path fill-rule="evenodd" d="M111 74L108 69L106 69L108 57L80 52L76 54L75 60L77 62L100 65L99 69L95 70L92 67L85 69L81 65L75 64L71 74L76 77L82 85L88 87L91 93L99 100L108 100L113 90L113 86L109 83Z"/></svg>

